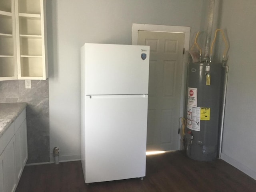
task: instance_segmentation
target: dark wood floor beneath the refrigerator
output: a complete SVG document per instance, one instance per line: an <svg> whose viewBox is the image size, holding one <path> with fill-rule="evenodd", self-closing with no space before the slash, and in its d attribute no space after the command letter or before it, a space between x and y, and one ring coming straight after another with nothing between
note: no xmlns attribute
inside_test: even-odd
<svg viewBox="0 0 256 192"><path fill-rule="evenodd" d="M176 151L147 156L143 181L86 185L80 161L26 166L16 192L256 192L256 180L223 160L198 162Z"/></svg>

